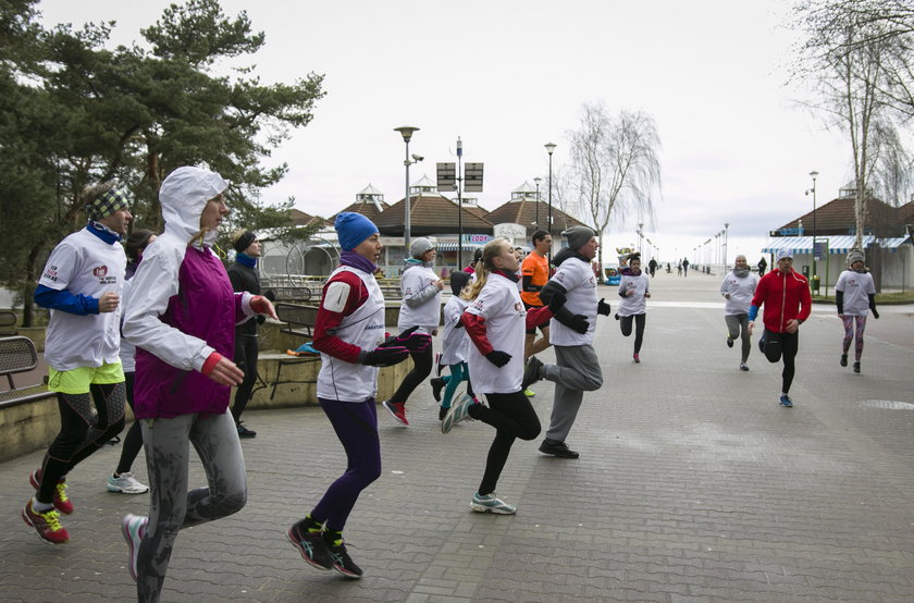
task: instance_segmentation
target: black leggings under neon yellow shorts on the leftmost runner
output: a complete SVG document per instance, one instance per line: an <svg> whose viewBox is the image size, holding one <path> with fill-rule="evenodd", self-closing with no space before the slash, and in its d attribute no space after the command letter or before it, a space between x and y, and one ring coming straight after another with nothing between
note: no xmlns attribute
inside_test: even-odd
<svg viewBox="0 0 914 603"><path fill-rule="evenodd" d="M41 464L39 503L52 502L57 483L124 429L124 383L92 384L89 392L57 394L60 433Z"/></svg>

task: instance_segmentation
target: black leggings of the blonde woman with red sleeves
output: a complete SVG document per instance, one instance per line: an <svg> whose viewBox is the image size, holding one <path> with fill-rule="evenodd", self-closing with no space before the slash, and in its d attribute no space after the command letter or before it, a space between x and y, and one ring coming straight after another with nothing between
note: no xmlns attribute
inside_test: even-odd
<svg viewBox="0 0 914 603"><path fill-rule="evenodd" d="M523 392L512 394L485 394L489 406L473 404L469 415L473 419L495 428L495 440L489 448L485 459L485 472L479 484L479 494L485 496L495 492L495 485L502 476L502 469L508 460L511 445L518 438L533 440L540 435L540 417Z"/></svg>

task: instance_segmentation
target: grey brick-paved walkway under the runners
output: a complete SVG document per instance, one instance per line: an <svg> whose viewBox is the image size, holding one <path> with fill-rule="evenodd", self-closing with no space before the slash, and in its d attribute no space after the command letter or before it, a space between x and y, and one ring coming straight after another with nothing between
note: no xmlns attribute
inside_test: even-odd
<svg viewBox="0 0 914 603"><path fill-rule="evenodd" d="M442 435L428 386L409 429L381 409L384 472L346 529L362 580L311 569L284 539L345 465L321 410L249 413L248 505L182 532L163 600L914 600L914 307L870 319L862 374L838 366L840 322L817 307L785 409L779 366L756 348L752 371L737 370L718 284L658 274L641 365L601 320L606 384L568 440L581 458L518 442L498 490L516 516L468 509L490 427ZM553 385L534 389L545 421ZM106 492L120 448L71 476L76 513L60 546L18 516L41 454L0 465L0 599L134 599L120 518L145 513L148 496ZM196 462L192 481L202 482Z"/></svg>

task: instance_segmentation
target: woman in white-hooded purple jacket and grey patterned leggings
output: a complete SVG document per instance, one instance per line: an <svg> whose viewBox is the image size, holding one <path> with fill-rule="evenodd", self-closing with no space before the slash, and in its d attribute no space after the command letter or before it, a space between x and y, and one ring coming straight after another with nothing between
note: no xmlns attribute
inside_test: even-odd
<svg viewBox="0 0 914 603"><path fill-rule="evenodd" d="M124 335L137 347L136 417L149 473L149 516L127 515L121 531L138 600L159 601L181 530L221 519L247 502L247 476L231 386L244 372L231 360L235 324L276 318L269 299L235 293L212 250L228 207L228 183L182 167L159 189L164 232L146 248L131 290ZM190 445L207 485L188 490Z"/></svg>

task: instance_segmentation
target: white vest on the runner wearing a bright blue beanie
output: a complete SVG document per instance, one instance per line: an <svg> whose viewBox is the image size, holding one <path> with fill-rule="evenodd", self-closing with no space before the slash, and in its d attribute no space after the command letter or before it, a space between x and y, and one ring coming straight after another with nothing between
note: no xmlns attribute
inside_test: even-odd
<svg viewBox="0 0 914 603"><path fill-rule="evenodd" d="M384 294L374 274L350 266L341 266L334 270L326 280L328 284L344 270L361 279L368 290L368 299L356 311L343 318L336 328L336 336L371 352L384 341ZM347 362L321 353L318 397L339 402L365 402L376 394L378 367Z"/></svg>

